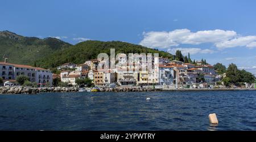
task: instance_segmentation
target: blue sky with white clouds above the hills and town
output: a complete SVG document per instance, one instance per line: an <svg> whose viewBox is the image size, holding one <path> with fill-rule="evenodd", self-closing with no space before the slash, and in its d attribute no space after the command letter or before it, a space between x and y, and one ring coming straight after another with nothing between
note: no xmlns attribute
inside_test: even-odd
<svg viewBox="0 0 256 142"><path fill-rule="evenodd" d="M126 41L256 74L256 1L0 1L0 31Z"/></svg>

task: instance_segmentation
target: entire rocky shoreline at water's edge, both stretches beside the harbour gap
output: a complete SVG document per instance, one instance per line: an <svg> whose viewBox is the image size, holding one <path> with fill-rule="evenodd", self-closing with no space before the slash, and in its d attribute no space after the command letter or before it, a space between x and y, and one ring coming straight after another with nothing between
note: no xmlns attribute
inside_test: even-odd
<svg viewBox="0 0 256 142"><path fill-rule="evenodd" d="M256 91L254 88L215 88L215 89L153 89L153 88L106 88L100 89L100 92L149 92L149 91ZM0 87L0 94L39 94L39 93L54 93L54 92L79 92L77 87Z"/></svg>

